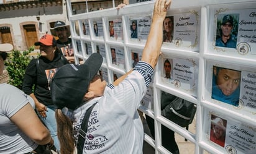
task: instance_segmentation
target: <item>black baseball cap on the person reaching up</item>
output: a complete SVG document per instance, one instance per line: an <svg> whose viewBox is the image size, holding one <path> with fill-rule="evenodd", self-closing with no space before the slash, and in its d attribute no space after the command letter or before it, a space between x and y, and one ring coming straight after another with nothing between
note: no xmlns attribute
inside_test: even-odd
<svg viewBox="0 0 256 154"><path fill-rule="evenodd" d="M84 64L60 67L50 83L53 104L60 109L76 109L83 105L89 83L98 73L102 62L101 54L93 53Z"/></svg>

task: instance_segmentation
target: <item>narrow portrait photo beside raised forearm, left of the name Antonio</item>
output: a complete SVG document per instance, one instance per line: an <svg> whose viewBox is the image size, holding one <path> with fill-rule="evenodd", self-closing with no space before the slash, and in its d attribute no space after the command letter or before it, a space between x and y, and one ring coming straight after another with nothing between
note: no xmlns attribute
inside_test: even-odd
<svg viewBox="0 0 256 154"><path fill-rule="evenodd" d="M163 42L173 41L173 16L165 17L163 20Z"/></svg>

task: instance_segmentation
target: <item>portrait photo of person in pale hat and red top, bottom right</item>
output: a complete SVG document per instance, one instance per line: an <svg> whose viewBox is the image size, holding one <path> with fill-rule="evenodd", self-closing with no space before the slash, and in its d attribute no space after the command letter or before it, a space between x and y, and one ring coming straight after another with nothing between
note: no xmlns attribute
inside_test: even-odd
<svg viewBox="0 0 256 154"><path fill-rule="evenodd" d="M221 147L225 145L226 125L227 121L225 119L211 116L210 140Z"/></svg>

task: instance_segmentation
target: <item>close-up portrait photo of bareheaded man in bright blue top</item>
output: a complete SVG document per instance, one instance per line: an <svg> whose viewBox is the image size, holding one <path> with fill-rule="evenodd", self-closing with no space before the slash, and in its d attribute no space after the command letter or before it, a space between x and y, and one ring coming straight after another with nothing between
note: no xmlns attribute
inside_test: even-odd
<svg viewBox="0 0 256 154"><path fill-rule="evenodd" d="M211 98L229 105L239 105L241 72L213 66Z"/></svg>

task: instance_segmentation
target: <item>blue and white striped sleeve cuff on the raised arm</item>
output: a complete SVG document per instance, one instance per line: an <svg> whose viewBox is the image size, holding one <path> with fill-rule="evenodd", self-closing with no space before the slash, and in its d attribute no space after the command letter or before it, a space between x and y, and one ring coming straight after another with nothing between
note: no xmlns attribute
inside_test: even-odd
<svg viewBox="0 0 256 154"><path fill-rule="evenodd" d="M134 71L139 72L145 79L145 85L147 88L149 88L150 83L153 80L153 68L148 64L147 62L144 61L139 61L137 65L134 67Z"/></svg>

